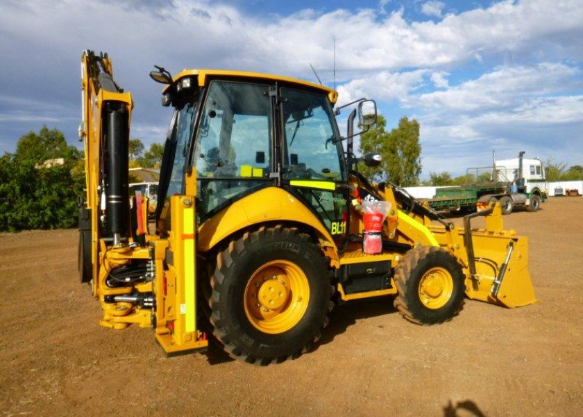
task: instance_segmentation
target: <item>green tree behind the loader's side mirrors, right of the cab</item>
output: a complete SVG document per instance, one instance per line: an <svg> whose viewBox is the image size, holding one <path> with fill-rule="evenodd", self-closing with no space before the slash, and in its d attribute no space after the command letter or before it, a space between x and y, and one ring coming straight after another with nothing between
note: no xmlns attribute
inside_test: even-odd
<svg viewBox="0 0 583 417"><path fill-rule="evenodd" d="M398 127L385 130L385 117L378 115L377 123L362 133L360 152L378 152L382 156L379 167L359 167L370 179L387 179L398 186L416 186L421 174L421 144L419 123L407 117L399 120Z"/></svg>

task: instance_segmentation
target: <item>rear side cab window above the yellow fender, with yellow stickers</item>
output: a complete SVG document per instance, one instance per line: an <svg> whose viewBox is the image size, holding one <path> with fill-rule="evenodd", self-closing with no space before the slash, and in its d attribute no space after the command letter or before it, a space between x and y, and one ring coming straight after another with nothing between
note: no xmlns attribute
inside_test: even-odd
<svg viewBox="0 0 583 417"><path fill-rule="evenodd" d="M203 217L269 181L268 92L267 85L210 83L194 149Z"/></svg>

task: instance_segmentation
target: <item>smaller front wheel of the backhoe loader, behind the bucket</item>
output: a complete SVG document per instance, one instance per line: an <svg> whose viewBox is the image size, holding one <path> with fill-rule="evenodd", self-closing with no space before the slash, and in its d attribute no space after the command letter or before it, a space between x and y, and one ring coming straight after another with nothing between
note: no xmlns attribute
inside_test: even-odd
<svg viewBox="0 0 583 417"><path fill-rule="evenodd" d="M435 325L451 320L464 302L464 273L457 260L439 247L415 247L395 272L395 308L407 320Z"/></svg>

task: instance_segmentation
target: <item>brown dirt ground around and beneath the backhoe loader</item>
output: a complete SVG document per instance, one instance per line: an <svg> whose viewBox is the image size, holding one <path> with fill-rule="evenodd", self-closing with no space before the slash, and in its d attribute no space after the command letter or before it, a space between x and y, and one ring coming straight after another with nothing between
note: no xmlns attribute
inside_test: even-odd
<svg viewBox="0 0 583 417"><path fill-rule="evenodd" d="M391 299L353 302L316 350L267 368L100 327L76 230L0 234L1 416L583 416L582 213L556 197L504 218L530 239L538 304L466 301L421 327Z"/></svg>

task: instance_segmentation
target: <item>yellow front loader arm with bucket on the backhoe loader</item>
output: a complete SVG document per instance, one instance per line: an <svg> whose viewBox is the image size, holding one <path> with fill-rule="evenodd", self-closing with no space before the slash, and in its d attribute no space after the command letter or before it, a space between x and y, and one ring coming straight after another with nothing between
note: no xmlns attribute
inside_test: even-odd
<svg viewBox="0 0 583 417"><path fill-rule="evenodd" d="M392 183L378 187L353 172L359 186L369 195L391 202L395 207L394 236L385 227L384 245L439 247L462 265L466 297L514 308L536 302L528 270L528 240L514 230L505 230L500 203L485 211L464 217L464 227L416 200ZM472 220L484 217L483 229L472 227ZM387 226L387 225L386 225Z"/></svg>

